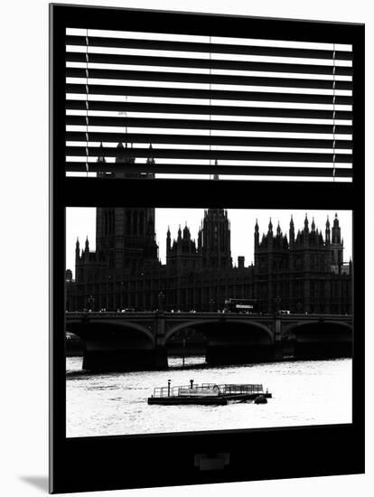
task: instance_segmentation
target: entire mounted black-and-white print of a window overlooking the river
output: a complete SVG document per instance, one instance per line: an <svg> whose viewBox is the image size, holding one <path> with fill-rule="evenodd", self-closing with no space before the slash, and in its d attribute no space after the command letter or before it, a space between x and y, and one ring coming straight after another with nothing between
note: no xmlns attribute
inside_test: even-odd
<svg viewBox="0 0 374 497"><path fill-rule="evenodd" d="M363 40L51 5L51 492L363 471Z"/></svg>

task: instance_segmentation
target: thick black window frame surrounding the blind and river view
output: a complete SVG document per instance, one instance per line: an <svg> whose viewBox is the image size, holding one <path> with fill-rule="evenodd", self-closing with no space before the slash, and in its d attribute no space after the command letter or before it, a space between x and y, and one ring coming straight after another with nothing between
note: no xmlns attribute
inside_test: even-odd
<svg viewBox="0 0 374 497"><path fill-rule="evenodd" d="M364 25L50 5L50 492L83 492L192 483L220 483L364 472ZM65 27L164 33L211 33L353 45L353 182L208 182L65 177ZM125 24L124 24L125 23ZM152 27L151 27L152 26ZM154 184L157 188L154 188ZM332 187L333 185L333 187ZM353 211L354 342L352 423L139 436L65 436L65 208L136 206L138 194L156 207L336 209ZM207 188L209 186L209 188ZM164 189L167 187L167 195ZM191 198L188 192L193 191ZM162 449L161 449L162 447ZM251 449L249 448L251 447ZM256 449L254 448L256 447ZM161 449L161 450L160 450ZM201 471L195 455L229 455L224 469ZM141 478L139 478L139 474Z"/></svg>

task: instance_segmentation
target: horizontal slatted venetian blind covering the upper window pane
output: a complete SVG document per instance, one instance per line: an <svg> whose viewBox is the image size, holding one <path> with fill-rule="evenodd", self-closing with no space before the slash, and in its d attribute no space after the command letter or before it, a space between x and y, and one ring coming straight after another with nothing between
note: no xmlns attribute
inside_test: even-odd
<svg viewBox="0 0 374 497"><path fill-rule="evenodd" d="M352 47L68 28L66 173L351 182Z"/></svg>

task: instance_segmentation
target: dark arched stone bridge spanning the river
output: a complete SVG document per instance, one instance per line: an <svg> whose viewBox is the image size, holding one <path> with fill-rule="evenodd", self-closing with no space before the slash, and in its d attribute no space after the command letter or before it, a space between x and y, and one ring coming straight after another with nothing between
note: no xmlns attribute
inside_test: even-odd
<svg viewBox="0 0 374 497"><path fill-rule="evenodd" d="M66 330L84 344L84 370L167 368L183 332L202 333L206 362L243 364L351 357L347 314L67 312Z"/></svg>

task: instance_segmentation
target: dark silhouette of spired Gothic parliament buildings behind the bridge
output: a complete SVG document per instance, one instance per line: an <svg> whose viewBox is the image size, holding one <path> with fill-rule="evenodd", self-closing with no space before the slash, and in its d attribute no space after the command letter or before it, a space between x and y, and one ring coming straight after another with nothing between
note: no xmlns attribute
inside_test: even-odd
<svg viewBox="0 0 374 497"><path fill-rule="evenodd" d="M98 177L154 178L152 146L136 172L134 166L126 171L126 164L135 164L131 147L118 144L116 164L109 168L101 148ZM336 214L332 227L327 218L324 237L314 220L309 227L306 215L303 230L297 232L291 217L288 237L279 224L273 230L270 220L260 239L256 221L250 266L244 257L233 265L224 209L204 211L197 241L187 226L179 227L176 239L169 229L165 264L158 257L154 226L151 207L97 208L96 250L90 251L89 239L80 248L77 239L75 280L66 271L67 310L204 312L222 310L229 298L250 298L263 313L281 307L291 313L351 314L352 263L343 262Z"/></svg>

